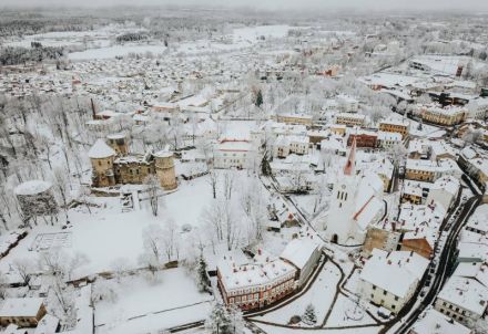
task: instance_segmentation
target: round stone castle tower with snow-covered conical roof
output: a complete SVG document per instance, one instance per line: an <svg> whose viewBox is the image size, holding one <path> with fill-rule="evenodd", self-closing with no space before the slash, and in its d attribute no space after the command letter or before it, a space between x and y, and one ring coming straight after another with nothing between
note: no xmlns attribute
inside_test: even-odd
<svg viewBox="0 0 488 334"><path fill-rule="evenodd" d="M115 150L106 145L103 139L98 139L90 148L88 156L92 164L92 186L114 186L113 160L116 156Z"/></svg>

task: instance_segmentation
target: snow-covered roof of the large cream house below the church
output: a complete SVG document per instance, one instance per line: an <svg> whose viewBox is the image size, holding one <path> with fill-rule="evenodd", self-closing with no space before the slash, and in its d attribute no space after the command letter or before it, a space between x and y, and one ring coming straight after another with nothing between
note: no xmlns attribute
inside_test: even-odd
<svg viewBox="0 0 488 334"><path fill-rule="evenodd" d="M373 249L360 279L398 296L406 298L428 267L428 260L409 251L390 253Z"/></svg>

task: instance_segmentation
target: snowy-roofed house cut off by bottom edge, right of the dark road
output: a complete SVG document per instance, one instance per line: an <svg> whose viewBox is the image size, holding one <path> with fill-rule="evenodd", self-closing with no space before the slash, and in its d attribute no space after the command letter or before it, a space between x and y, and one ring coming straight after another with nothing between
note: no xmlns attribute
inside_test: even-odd
<svg viewBox="0 0 488 334"><path fill-rule="evenodd" d="M425 311L408 334L472 334L472 331L435 309Z"/></svg>

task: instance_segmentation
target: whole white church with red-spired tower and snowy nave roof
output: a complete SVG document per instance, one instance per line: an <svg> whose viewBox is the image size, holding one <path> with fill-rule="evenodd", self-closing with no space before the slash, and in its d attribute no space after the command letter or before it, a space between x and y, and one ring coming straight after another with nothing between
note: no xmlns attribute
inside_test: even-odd
<svg viewBox="0 0 488 334"><path fill-rule="evenodd" d="M356 139L334 184L324 223L326 240L344 246L363 244L368 226L382 220L386 212L382 179L375 173L358 173L355 159Z"/></svg>

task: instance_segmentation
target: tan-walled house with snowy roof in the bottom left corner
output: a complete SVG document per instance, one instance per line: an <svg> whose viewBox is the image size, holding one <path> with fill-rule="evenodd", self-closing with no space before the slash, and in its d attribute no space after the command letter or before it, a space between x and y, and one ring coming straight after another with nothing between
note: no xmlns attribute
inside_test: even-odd
<svg viewBox="0 0 488 334"><path fill-rule="evenodd" d="M0 309L0 326L35 327L45 313L41 298L6 299Z"/></svg>

